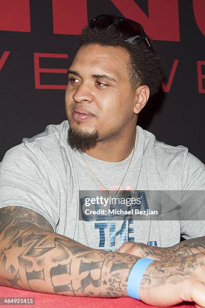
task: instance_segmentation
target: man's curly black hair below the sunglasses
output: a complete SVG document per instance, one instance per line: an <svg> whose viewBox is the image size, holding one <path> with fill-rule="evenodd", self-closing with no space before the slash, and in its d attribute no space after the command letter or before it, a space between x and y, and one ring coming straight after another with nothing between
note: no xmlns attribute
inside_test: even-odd
<svg viewBox="0 0 205 308"><path fill-rule="evenodd" d="M81 46L89 44L120 46L125 48L130 55L128 69L132 86L137 88L142 85L147 85L150 89L150 97L153 97L158 92L162 80L161 59L157 55L156 50L148 48L144 41L138 44L125 42L125 35L122 34L120 37L115 27L111 27L109 31L107 29L90 29L89 27L85 27L78 37L77 50ZM148 37L148 39L152 43L151 38Z"/></svg>

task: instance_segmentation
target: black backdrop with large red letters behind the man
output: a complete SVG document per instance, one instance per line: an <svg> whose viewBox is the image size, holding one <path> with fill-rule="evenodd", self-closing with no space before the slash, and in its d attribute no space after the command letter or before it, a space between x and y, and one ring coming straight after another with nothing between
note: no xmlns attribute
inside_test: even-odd
<svg viewBox="0 0 205 308"><path fill-rule="evenodd" d="M138 124L205 163L204 0L0 0L0 161L23 137L67 119L77 35L104 13L142 23L163 59L164 84Z"/></svg>

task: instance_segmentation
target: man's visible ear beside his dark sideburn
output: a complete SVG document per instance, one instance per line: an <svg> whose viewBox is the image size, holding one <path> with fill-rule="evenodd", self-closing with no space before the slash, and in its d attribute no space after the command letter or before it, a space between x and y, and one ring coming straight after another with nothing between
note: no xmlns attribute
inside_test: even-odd
<svg viewBox="0 0 205 308"><path fill-rule="evenodd" d="M135 91L134 113L138 114L145 107L150 95L149 87L140 86Z"/></svg>

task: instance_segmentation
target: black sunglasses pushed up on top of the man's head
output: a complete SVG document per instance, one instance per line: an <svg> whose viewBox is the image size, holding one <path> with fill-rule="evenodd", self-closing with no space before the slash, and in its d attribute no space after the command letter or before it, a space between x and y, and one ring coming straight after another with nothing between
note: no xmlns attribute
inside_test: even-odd
<svg viewBox="0 0 205 308"><path fill-rule="evenodd" d="M114 15L97 15L95 16L89 23L89 28L100 28L105 29L108 28L107 31L115 26L116 29L120 32L121 38L122 34L127 36L124 40L125 42L129 42L131 44L139 43L142 40L145 44L152 50L153 47L149 42L146 33L142 25L139 23L124 17L114 16Z"/></svg>

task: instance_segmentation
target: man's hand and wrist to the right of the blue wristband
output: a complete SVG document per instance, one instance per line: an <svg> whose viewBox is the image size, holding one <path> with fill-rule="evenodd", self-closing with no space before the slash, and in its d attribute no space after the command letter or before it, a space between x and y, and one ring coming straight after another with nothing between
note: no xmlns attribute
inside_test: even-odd
<svg viewBox="0 0 205 308"><path fill-rule="evenodd" d="M140 283L140 299L156 306L194 301L205 307L205 254L152 262Z"/></svg>

